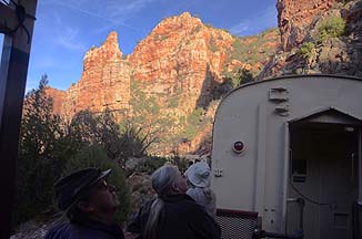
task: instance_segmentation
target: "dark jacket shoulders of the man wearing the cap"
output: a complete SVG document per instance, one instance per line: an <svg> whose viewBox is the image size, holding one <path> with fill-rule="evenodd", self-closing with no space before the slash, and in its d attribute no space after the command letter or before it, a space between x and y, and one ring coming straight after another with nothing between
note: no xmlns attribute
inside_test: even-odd
<svg viewBox="0 0 362 239"><path fill-rule="evenodd" d="M99 221L62 222L52 227L44 239L124 239L121 227Z"/></svg>

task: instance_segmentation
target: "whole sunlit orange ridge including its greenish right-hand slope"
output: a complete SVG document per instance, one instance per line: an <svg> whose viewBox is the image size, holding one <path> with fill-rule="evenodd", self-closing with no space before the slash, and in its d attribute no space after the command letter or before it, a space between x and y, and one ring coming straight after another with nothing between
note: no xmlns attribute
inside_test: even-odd
<svg viewBox="0 0 362 239"><path fill-rule="evenodd" d="M184 12L163 19L127 56L119 48L118 34L111 32L103 44L86 53L82 76L77 83L64 92L49 92L57 105L54 112L70 119L87 108L132 115L135 87L140 87L145 97L155 100L159 114L170 115L177 125L195 108L214 111L215 104L210 104L228 81L225 72L259 72L279 48L279 40L275 30L238 39ZM174 125L168 128L172 128L169 135L182 127ZM211 126L207 128L198 132L184 148L195 150L211 135Z"/></svg>

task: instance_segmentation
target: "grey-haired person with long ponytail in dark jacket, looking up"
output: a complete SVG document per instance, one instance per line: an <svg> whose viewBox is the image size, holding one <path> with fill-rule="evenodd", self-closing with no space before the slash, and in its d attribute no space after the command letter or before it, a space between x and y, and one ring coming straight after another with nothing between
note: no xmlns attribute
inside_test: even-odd
<svg viewBox="0 0 362 239"><path fill-rule="evenodd" d="M137 239L220 239L215 220L189 195L179 168L164 165L152 174L158 197L147 201L127 227Z"/></svg>

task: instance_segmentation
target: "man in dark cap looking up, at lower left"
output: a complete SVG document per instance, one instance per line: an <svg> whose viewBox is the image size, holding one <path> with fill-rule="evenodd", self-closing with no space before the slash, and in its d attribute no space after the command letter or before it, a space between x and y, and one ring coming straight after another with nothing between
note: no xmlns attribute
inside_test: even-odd
<svg viewBox="0 0 362 239"><path fill-rule="evenodd" d="M56 183L60 210L68 220L57 224L44 239L123 239L120 226L112 224L119 200L104 178L111 169L86 168Z"/></svg>

